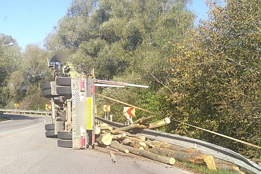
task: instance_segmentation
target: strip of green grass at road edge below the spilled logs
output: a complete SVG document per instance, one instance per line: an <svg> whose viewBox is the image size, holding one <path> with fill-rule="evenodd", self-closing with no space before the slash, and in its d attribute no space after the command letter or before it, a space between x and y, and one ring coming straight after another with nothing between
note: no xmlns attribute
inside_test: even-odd
<svg viewBox="0 0 261 174"><path fill-rule="evenodd" d="M207 173L207 174L234 174L232 172L229 172L229 171L224 171L224 170L212 170L212 169L208 169L207 167L205 166L202 166L202 165L197 165L197 164L192 164L192 163L187 163L187 162L181 162L181 161L178 161L176 160L177 163L180 163L186 167L189 167L191 169L194 169L194 170L197 170L197 171L200 171L200 172L204 172L204 173Z"/></svg>

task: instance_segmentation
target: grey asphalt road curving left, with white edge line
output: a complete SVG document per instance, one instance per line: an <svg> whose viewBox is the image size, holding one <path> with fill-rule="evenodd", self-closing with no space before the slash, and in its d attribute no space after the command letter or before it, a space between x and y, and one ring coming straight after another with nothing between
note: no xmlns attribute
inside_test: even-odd
<svg viewBox="0 0 261 174"><path fill-rule="evenodd" d="M7 117L13 120L0 122L0 173L189 173L175 166L116 152L116 163L112 164L109 151L104 148L72 150L58 147L57 139L45 137L44 125L50 118Z"/></svg>

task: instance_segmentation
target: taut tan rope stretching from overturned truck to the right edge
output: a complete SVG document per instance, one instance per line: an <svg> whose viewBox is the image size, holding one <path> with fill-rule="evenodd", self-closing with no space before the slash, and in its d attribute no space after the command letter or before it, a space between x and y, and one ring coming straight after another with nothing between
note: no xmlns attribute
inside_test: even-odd
<svg viewBox="0 0 261 174"><path fill-rule="evenodd" d="M106 96L104 96L104 95L102 95L102 94L98 94L98 93L95 93L95 94L97 94L97 95L99 95L99 96L101 96L101 97L104 97L104 98L107 98L107 99L110 99L110 100L116 101L116 102L118 102L118 103L121 103L121 104L124 104L124 105L127 105L127 106L131 106L131 107L135 107L135 108L137 108L137 109L139 109L139 110L142 110L142 111L145 111L145 112L149 112L149 113L152 113L152 114L155 114L155 115L158 115L158 116L161 116L161 117L166 118L164 115L161 115L161 114L159 114L159 113L152 112L152 111L149 111L149 110L143 109L143 108L141 108L141 107L138 107L138 106L134 106L134 105L131 105L131 104L125 103L125 102L120 101L120 100L116 100L116 99L113 99L113 98L110 98L110 97L106 97ZM217 133L217 132L211 131L211 130L207 130L207 129L200 128L200 127L197 127L197 126L194 126L194 125L188 124L188 123L184 123L184 122L178 121L178 120L173 119L173 118L170 118L170 119L171 119L171 120L174 120L174 121L176 121L176 122L179 122L179 123L182 123L182 124L186 124L186 125L189 125L189 126L191 126L191 127L194 127L194 128L200 129L200 130L204 130L204 131L206 131L206 132L210 132L210 133L212 133L212 134L216 134L216 135L219 135L219 136L222 136L222 137L228 138L228 139L230 139L230 140L234 140L234 141L237 141L237 142L241 142L241 143L246 144L246 145L248 145L248 146L253 146L253 147L256 147L256 148L261 149L260 146L253 145L253 144L251 144L251 143L248 143L248 142L245 142L245 141L242 141L242 140L238 140L238 139L236 139L236 138L233 138L233 137L230 137L230 136L227 136L227 135L223 135L223 134L220 134L220 133Z"/></svg>

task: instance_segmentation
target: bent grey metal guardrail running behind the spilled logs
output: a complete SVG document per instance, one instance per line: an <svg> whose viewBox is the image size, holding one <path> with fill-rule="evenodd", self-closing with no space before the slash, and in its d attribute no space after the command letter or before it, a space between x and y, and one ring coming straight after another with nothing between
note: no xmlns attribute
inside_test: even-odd
<svg viewBox="0 0 261 174"><path fill-rule="evenodd" d="M124 125L121 123L117 122L111 122L109 120L106 120L101 117L97 117L97 120L103 123L107 123L111 125L114 128L120 128L123 127ZM258 164L254 163L253 161L250 161L249 159L245 158L244 156L221 146L217 146L215 144L185 137L185 136L180 136L180 135L175 135L175 134L169 134L165 132L160 132L160 131L155 131L155 130L150 130L150 129L140 129L136 131L132 131L132 133L137 133L139 135L143 135L147 138L153 139L153 140L158 140L158 141L166 141L168 143L177 145L177 146L182 146L186 148L197 148L199 149L202 153L205 154L210 154L213 155L215 158L222 159L225 161L228 161L230 163L234 163L240 167L243 167L253 173L260 174L261 173L261 166Z"/></svg>

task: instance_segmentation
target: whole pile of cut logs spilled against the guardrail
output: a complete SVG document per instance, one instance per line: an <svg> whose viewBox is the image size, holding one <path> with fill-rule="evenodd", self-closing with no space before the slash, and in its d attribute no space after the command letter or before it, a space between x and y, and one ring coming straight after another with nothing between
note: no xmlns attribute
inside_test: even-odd
<svg viewBox="0 0 261 174"><path fill-rule="evenodd" d="M133 124L113 129L106 123L96 125L96 142L100 147L110 146L123 153L132 153L161 163L173 165L175 160L204 165L209 169L227 170L243 174L235 164L216 159L212 155L201 153L195 148L185 148L161 141L146 140L144 136L133 135L132 129L152 129L170 123L169 118L146 124L152 116L138 119Z"/></svg>

